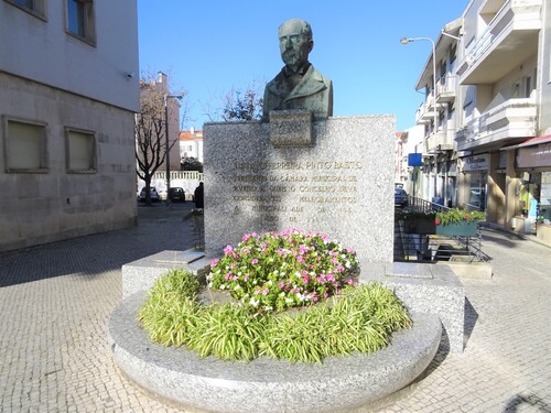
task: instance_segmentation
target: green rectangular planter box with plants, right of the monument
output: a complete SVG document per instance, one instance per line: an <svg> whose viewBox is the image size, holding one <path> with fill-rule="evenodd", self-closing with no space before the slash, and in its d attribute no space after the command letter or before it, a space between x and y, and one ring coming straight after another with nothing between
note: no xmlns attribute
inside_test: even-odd
<svg viewBox="0 0 551 413"><path fill-rule="evenodd" d="M451 208L436 213L434 224L439 236L476 236L476 228L479 220L484 220L486 214L479 210L467 210L462 208Z"/></svg>

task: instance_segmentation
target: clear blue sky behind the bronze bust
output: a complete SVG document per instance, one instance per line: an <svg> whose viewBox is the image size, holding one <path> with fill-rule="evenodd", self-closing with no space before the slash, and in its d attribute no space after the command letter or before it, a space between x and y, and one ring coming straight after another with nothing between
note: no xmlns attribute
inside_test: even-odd
<svg viewBox="0 0 551 413"><path fill-rule="evenodd" d="M207 107L231 88L269 81L283 66L278 26L306 20L310 62L333 80L334 116L393 115L397 130L414 126L423 95L414 90L436 40L467 0L252 1L138 0L140 73L171 75L187 91L184 128L201 129Z"/></svg>

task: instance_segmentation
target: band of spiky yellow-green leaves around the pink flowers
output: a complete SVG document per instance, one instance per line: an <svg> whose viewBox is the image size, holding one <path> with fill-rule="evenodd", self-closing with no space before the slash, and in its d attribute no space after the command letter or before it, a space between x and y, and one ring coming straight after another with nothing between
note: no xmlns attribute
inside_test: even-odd
<svg viewBox="0 0 551 413"><path fill-rule="evenodd" d="M291 313L256 313L238 303L203 304L194 275L171 271L150 290L139 320L152 341L186 346L202 357L323 362L325 357L372 352L412 322L396 295L378 283Z"/></svg>

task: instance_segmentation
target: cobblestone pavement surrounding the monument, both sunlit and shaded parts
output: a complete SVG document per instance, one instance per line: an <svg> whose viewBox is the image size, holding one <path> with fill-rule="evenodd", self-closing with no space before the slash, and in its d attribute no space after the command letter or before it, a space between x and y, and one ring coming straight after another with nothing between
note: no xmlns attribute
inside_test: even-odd
<svg viewBox="0 0 551 413"><path fill-rule="evenodd" d="M136 228L0 254L2 412L181 412L116 369L109 314L120 268L196 244L191 204L139 208ZM466 347L380 412L551 412L551 249L485 230L491 280L463 279Z"/></svg>

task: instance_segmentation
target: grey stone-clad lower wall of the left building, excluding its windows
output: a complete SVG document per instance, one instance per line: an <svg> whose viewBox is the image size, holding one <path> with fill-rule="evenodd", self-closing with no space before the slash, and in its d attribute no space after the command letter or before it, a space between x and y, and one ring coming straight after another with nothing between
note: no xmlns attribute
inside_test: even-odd
<svg viewBox="0 0 551 413"><path fill-rule="evenodd" d="M136 224L133 113L0 73L0 251ZM6 172L6 122L46 127L47 169ZM95 133L95 172L69 173L65 128Z"/></svg>

